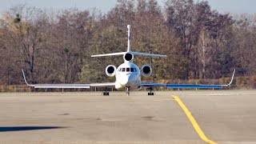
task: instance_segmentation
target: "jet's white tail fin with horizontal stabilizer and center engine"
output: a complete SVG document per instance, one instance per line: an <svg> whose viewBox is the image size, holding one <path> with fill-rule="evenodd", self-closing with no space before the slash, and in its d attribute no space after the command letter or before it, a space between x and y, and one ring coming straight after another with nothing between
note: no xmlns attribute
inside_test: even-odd
<svg viewBox="0 0 256 144"><path fill-rule="evenodd" d="M123 55L125 61L129 61L129 62L132 62L132 59L134 58L134 55L144 55L144 56L150 56L150 57L167 57L166 55L162 55L162 54L149 54L149 53L139 53L139 52L131 51L131 49L130 49L130 41L131 41L130 25L127 26L127 29L128 29L128 31L127 31L128 32L128 44L127 44L127 51L126 52L118 52L118 53L110 53L110 54L97 54L97 55L92 55L91 57Z"/></svg>

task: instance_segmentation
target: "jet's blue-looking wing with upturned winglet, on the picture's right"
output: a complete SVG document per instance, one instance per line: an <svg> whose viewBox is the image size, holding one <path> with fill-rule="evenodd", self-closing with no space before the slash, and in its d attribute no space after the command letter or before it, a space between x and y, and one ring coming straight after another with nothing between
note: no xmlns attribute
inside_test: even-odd
<svg viewBox="0 0 256 144"><path fill-rule="evenodd" d="M234 70L235 72L235 70ZM165 84L165 83L142 83L142 87L166 87L166 88L180 88L180 89L222 89L223 87L230 86L234 79L234 72L230 83L226 85L198 85L198 84Z"/></svg>

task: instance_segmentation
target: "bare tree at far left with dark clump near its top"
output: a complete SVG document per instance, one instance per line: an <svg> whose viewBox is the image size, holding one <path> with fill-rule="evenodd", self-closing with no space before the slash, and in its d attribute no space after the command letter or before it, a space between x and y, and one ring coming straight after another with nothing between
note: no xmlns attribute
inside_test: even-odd
<svg viewBox="0 0 256 144"><path fill-rule="evenodd" d="M32 82L36 81L36 62L43 48L44 14L36 8L16 6L6 14L5 46L11 50L14 62L29 70Z"/></svg>

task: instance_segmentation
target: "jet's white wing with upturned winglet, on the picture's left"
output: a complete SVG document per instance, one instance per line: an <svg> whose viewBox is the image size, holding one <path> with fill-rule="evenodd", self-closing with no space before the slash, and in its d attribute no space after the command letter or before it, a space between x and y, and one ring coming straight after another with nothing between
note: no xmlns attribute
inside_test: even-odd
<svg viewBox="0 0 256 144"><path fill-rule="evenodd" d="M106 83L91 83L91 84L29 84L26 81L26 76L24 70L22 70L23 78L27 86L32 86L34 88L52 88L52 89L90 89L90 87L114 87L114 82Z"/></svg>

